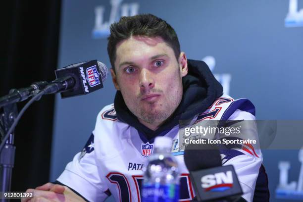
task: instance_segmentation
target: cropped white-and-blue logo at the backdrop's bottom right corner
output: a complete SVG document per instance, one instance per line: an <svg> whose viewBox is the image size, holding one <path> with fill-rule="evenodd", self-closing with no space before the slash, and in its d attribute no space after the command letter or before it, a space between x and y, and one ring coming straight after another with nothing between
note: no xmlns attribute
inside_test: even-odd
<svg viewBox="0 0 303 202"><path fill-rule="evenodd" d="M279 162L280 179L276 189L277 199L303 200L303 148L299 151L299 161L301 162L301 169L298 182L292 181L290 183L288 182L288 171L291 168L290 162Z"/></svg>

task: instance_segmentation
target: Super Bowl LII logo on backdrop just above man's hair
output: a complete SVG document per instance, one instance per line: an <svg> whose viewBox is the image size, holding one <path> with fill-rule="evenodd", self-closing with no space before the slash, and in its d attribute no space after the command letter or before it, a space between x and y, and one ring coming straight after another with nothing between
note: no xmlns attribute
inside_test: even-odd
<svg viewBox="0 0 303 202"><path fill-rule="evenodd" d="M94 39L104 39L109 35L110 24L118 21L121 16L133 16L138 14L139 3L122 3L122 0L110 0L110 13L108 21L105 21L105 6L95 7L95 27L93 29Z"/></svg>

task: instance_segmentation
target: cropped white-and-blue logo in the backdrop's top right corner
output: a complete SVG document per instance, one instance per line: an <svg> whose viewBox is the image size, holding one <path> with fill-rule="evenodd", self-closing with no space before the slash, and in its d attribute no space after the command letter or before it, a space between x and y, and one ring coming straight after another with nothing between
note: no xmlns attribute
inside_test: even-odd
<svg viewBox="0 0 303 202"><path fill-rule="evenodd" d="M303 26L303 9L298 9L298 0L289 0L288 13L285 18L286 27Z"/></svg>

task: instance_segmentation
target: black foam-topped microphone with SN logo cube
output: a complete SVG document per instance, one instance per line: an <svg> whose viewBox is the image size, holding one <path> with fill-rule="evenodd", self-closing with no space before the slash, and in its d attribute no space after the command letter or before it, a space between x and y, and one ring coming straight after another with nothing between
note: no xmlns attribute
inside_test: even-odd
<svg viewBox="0 0 303 202"><path fill-rule="evenodd" d="M184 151L184 162L190 172L199 202L246 201L235 169L222 166L220 152L212 144L203 144L203 149Z"/></svg>

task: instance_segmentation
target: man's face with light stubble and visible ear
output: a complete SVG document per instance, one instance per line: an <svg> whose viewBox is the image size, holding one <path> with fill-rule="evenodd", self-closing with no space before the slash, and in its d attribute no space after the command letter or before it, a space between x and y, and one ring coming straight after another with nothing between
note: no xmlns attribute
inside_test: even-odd
<svg viewBox="0 0 303 202"><path fill-rule="evenodd" d="M182 99L182 77L187 59L177 60L160 37L133 36L116 47L115 88L121 91L129 110L152 129L165 121Z"/></svg>

